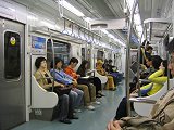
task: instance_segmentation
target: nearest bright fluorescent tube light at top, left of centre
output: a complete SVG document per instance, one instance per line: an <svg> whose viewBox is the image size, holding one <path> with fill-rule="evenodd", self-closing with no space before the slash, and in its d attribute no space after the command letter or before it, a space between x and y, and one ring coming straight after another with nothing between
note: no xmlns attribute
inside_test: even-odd
<svg viewBox="0 0 174 130"><path fill-rule="evenodd" d="M62 6L65 8L66 10L69 10L70 12L74 13L77 16L85 16L80 11L78 11L76 8L74 8L73 5L71 5L69 2L63 0Z"/></svg>

